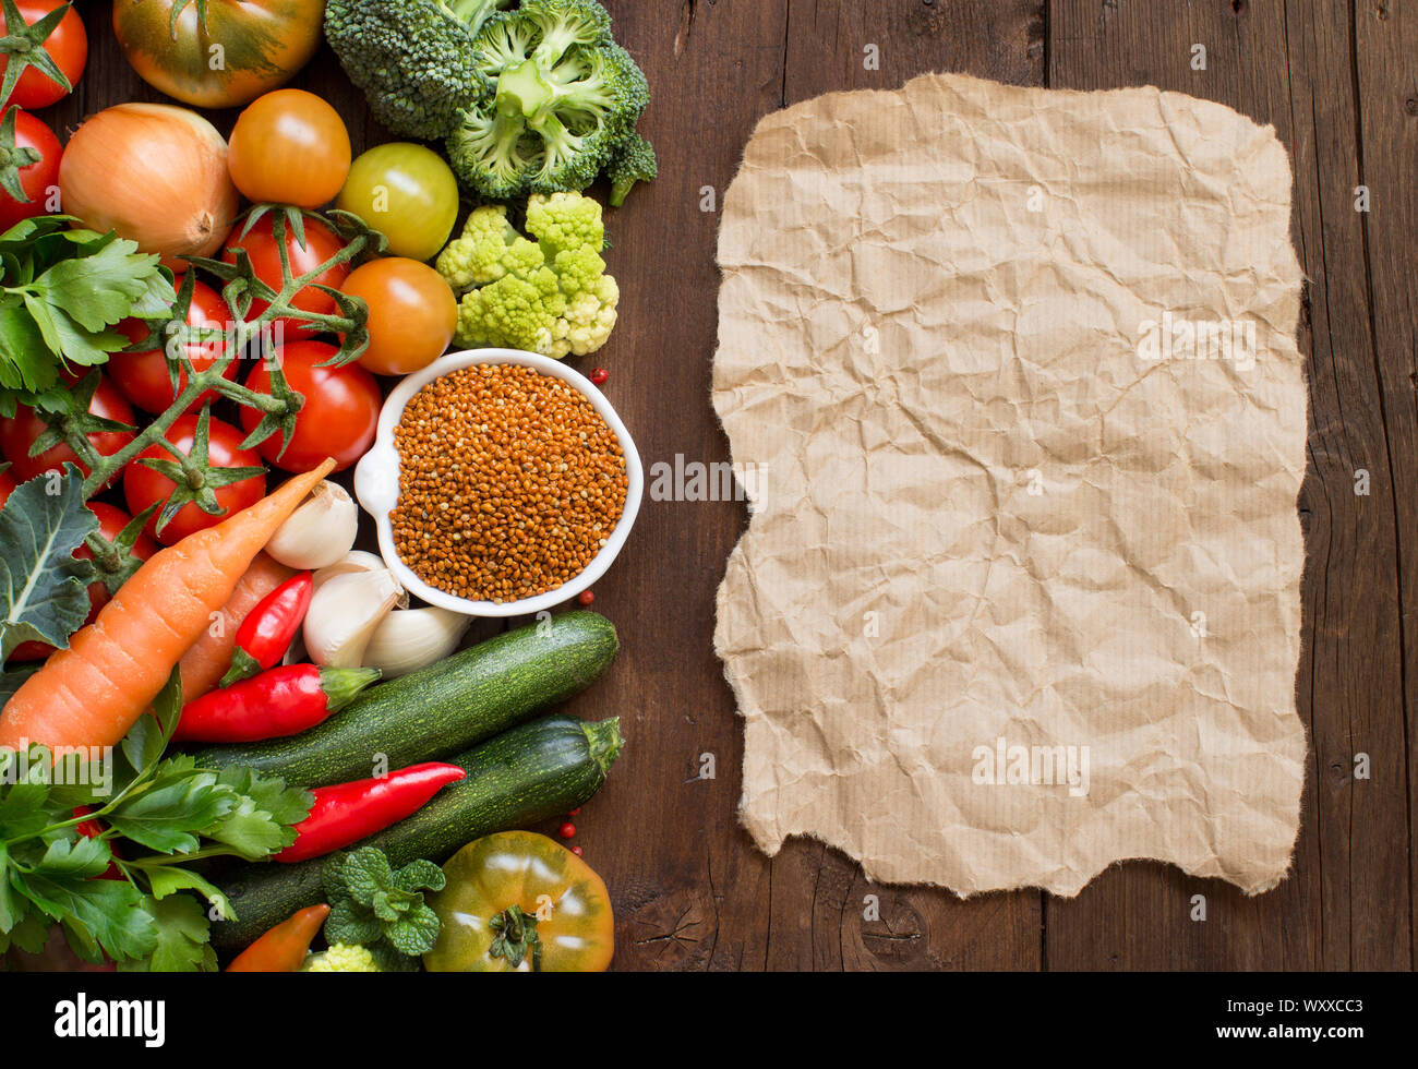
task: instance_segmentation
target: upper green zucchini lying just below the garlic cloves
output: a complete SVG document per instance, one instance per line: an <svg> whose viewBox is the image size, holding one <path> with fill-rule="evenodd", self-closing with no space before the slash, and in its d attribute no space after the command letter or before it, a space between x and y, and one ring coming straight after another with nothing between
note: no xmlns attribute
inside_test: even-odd
<svg viewBox="0 0 1418 1069"><path fill-rule="evenodd" d="M366 690L309 732L203 750L197 767L237 766L294 787L325 787L374 776L380 754L384 767L404 768L461 753L580 693L617 649L605 617L564 612Z"/></svg>

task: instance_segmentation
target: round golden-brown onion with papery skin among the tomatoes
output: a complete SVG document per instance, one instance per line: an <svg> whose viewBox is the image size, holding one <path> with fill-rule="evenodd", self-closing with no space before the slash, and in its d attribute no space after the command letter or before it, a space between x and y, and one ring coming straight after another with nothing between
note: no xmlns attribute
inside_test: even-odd
<svg viewBox="0 0 1418 1069"><path fill-rule="evenodd" d="M238 204L227 142L169 103L121 103L79 126L60 162L60 198L85 227L169 262L216 252Z"/></svg>

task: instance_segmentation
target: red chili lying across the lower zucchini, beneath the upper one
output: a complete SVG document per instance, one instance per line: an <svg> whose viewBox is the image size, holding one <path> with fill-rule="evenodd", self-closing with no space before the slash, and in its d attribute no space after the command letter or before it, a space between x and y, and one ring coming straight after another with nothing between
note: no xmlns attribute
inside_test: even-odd
<svg viewBox="0 0 1418 1069"><path fill-rule="evenodd" d="M295 825L296 839L275 861L319 858L413 817L440 788L468 776L457 764L427 761L373 780L311 791L311 815Z"/></svg>

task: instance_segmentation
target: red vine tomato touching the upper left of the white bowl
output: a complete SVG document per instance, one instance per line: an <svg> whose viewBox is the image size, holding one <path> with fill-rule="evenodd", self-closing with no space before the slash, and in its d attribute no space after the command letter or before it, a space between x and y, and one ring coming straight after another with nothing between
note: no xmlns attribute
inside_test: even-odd
<svg viewBox="0 0 1418 1069"><path fill-rule="evenodd" d="M275 359L286 383L305 398L305 405L295 417L295 434L291 435L284 457L277 459L281 452L279 434L272 434L257 447L271 464L288 472L306 472L326 457L333 457L336 471L342 471L363 457L373 444L381 404L379 383L359 364L316 367L337 352L323 342L296 342L277 350ZM265 360L251 371L247 386L261 393L271 388ZM248 434L258 422L261 413L254 408L241 410L241 425Z"/></svg>

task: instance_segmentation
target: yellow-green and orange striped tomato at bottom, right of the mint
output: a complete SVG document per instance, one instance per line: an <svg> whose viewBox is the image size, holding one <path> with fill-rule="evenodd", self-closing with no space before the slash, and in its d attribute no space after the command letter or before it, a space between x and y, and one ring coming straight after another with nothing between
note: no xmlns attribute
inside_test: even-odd
<svg viewBox="0 0 1418 1069"><path fill-rule="evenodd" d="M603 973L615 917L591 866L546 835L509 831L469 842L444 865L430 906L442 922L430 973ZM510 946L509 946L510 944ZM533 950L540 947L540 953Z"/></svg>

